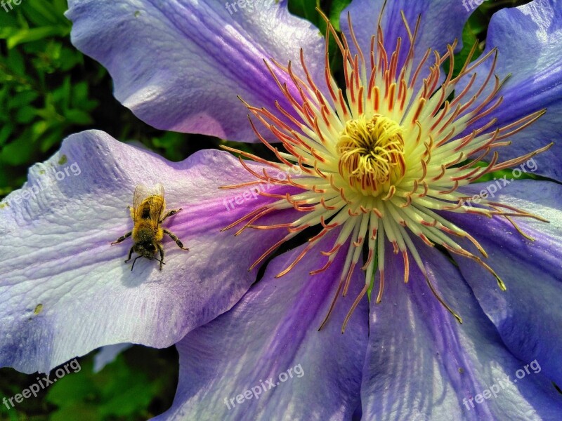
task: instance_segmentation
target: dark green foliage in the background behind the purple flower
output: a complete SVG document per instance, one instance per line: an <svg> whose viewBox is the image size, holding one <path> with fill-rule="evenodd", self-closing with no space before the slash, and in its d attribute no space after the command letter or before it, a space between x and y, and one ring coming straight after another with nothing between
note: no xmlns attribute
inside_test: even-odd
<svg viewBox="0 0 562 421"><path fill-rule="evenodd" d="M339 28L339 13L349 1L289 0L289 9L323 32L326 25L316 7ZM485 39L493 12L527 2L486 1L478 8L464 28L457 65L477 39ZM112 97L106 70L70 44L66 9L65 0L23 0L11 11L0 8L0 199L21 187L27 168L51 156L67 135L89 128L123 141L140 141L172 161L224 142L158 131L136 119ZM479 52L483 46L478 44ZM334 60L334 69L338 62ZM260 145L236 146L265 152ZM71 372L37 398L11 410L1 405L0 420L145 420L164 412L174 399L178 380L174 347L133 347L98 374L92 371L93 354L79 361L79 373ZM36 377L0 369L0 399L20 393Z"/></svg>

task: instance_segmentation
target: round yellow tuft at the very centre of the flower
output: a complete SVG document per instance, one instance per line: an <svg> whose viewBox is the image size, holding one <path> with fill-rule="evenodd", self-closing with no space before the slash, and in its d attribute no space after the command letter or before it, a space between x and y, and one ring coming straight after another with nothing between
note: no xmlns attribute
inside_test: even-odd
<svg viewBox="0 0 562 421"><path fill-rule="evenodd" d="M402 128L388 117L365 114L346 123L336 145L339 173L353 189L378 196L405 173Z"/></svg>

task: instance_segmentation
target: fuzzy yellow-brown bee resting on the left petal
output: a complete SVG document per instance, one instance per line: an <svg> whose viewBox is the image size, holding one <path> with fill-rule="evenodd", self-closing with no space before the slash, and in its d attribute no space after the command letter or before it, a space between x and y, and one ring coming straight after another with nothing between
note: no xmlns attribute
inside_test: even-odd
<svg viewBox="0 0 562 421"><path fill-rule="evenodd" d="M133 260L131 271L135 267L135 262L138 258L153 258L160 262L160 270L164 263L164 248L160 244L164 234L168 234L170 238L176 241L176 244L182 250L189 250L183 247L183 243L178 237L166 228L160 225L166 218L181 211L181 208L169 210L166 212L166 202L164 201L164 186L158 183L153 189L148 189L145 185L138 185L135 188L133 195L133 207L131 208L131 218L133 218L133 230L127 232L124 236L120 236L117 240L113 241L111 245L121 243L130 236L133 236L133 246L129 250L129 258L125 263L131 260L133 251L138 256ZM160 259L155 258L156 250L160 252Z"/></svg>

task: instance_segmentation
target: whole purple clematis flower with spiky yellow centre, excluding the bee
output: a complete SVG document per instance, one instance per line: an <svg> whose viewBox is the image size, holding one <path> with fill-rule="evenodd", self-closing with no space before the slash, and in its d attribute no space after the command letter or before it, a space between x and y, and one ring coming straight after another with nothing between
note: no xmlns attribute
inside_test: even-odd
<svg viewBox="0 0 562 421"><path fill-rule="evenodd" d="M169 163L98 131L65 140L0 210L1 366L176 344L162 419L556 419L557 1L496 13L453 76L462 2L354 0L341 38L327 29L345 86L329 37L284 1L69 6L74 44L141 119L260 141L276 160ZM507 168L552 181L476 183ZM162 271L131 272L109 245L131 229L138 182L183 208L166 224L190 250L164 241Z"/></svg>

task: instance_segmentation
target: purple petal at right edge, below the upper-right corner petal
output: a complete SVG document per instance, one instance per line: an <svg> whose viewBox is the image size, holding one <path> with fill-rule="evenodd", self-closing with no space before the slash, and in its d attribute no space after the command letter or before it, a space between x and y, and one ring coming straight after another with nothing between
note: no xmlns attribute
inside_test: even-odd
<svg viewBox="0 0 562 421"><path fill-rule="evenodd" d="M488 186L476 185L473 191L478 187ZM533 242L504 219L473 215L450 218L488 252L486 262L506 284L505 292L478 265L457 262L505 345L523 361L540 361L544 374L562 385L562 186L513 181L494 200L540 215L550 223L516 218L518 227L535 238Z"/></svg>

